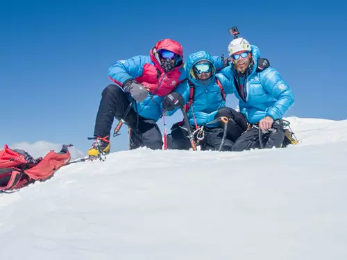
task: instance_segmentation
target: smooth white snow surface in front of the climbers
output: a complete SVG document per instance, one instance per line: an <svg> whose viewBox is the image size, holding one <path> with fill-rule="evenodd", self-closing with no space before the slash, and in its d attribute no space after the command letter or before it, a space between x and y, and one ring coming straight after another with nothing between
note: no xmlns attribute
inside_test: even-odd
<svg viewBox="0 0 347 260"><path fill-rule="evenodd" d="M242 153L137 149L0 194L1 259L347 259L347 121Z"/></svg>

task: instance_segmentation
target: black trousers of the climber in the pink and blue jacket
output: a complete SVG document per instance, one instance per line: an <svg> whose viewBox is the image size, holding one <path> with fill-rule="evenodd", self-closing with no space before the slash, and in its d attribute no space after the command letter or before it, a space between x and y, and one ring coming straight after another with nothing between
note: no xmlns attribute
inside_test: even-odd
<svg viewBox="0 0 347 260"><path fill-rule="evenodd" d="M103 89L99 110L96 115L94 137L110 136L114 118L123 118L130 105L127 94L118 85L108 85ZM162 134L153 119L139 116L133 108L123 118L125 124L131 128L130 147L139 148L146 146L151 149L162 149Z"/></svg>

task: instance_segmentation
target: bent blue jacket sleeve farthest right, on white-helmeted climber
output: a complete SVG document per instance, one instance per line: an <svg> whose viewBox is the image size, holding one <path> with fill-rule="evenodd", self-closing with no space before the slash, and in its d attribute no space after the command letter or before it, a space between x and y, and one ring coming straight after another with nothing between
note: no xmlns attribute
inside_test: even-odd
<svg viewBox="0 0 347 260"><path fill-rule="evenodd" d="M271 116L274 120L281 119L294 104L293 92L291 92L287 83L282 80L280 73L272 67L259 73L259 76L260 82L266 92L269 92L271 96L278 100L272 107L269 107L266 111L266 116Z"/></svg>

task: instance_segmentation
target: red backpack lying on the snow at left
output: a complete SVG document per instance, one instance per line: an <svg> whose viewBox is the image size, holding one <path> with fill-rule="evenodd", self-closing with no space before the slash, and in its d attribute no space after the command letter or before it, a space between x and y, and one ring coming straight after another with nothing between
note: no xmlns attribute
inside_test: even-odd
<svg viewBox="0 0 347 260"><path fill-rule="evenodd" d="M69 163L68 147L63 145L59 153L51 150L44 158L34 159L24 150L12 150L5 145L0 151L0 192L47 180L58 168Z"/></svg>

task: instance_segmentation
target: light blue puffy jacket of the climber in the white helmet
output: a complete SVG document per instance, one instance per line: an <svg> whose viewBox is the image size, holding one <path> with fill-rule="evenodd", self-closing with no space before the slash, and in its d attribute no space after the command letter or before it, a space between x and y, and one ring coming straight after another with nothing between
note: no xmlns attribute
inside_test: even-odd
<svg viewBox="0 0 347 260"><path fill-rule="evenodd" d="M232 92L239 99L240 112L246 116L249 123L257 123L265 116L271 116L274 120L282 119L294 104L293 92L276 69L269 67L259 73L255 71L259 55L253 55L255 64L246 77L243 97L237 91L237 79L232 65L217 73L223 87L232 87Z"/></svg>

